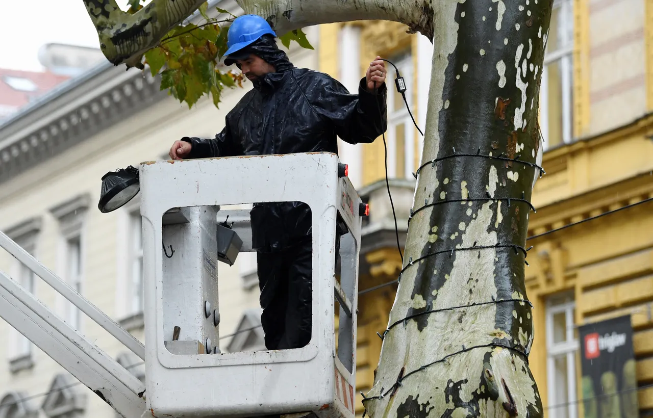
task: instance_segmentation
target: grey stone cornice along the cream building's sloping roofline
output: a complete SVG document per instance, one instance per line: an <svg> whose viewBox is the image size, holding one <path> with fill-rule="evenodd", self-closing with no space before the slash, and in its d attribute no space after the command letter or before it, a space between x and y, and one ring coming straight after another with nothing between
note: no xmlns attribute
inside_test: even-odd
<svg viewBox="0 0 653 418"><path fill-rule="evenodd" d="M209 3L212 17L221 16L215 6L242 13L234 0ZM188 20L199 19L196 12ZM0 186L164 100L168 93L160 85L160 77L153 78L147 67L125 71L104 61L46 93L0 123Z"/></svg>

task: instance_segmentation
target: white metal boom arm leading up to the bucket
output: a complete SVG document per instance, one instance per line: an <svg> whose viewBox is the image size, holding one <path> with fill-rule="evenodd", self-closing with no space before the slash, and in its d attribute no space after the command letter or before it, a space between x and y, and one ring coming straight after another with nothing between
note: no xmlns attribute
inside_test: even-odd
<svg viewBox="0 0 653 418"><path fill-rule="evenodd" d="M35 274L41 276L74 305L99 318L99 325L123 344L131 343L139 357L144 348L106 314L76 293L23 248L0 231L0 246ZM44 277L47 276L47 277ZM71 300L74 299L74 300ZM140 417L145 411L145 385L109 355L72 328L15 280L0 271L0 317L63 366L125 418ZM117 334L117 335L116 335ZM125 335L129 338L124 338ZM136 343L136 344L134 344ZM127 345L127 344L125 344ZM140 346L140 347L139 347Z"/></svg>

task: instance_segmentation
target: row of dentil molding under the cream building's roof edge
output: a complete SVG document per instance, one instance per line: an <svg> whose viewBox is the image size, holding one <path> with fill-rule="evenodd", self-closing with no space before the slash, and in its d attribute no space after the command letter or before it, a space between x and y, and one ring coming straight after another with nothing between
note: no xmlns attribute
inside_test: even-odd
<svg viewBox="0 0 653 418"><path fill-rule="evenodd" d="M115 68L108 67L94 78L106 78L112 83L113 79L108 76L114 71ZM85 80L76 87L92 90L74 109L54 117L42 127L30 128L31 132L0 147L0 184L168 97L165 91L159 91L159 76L153 78L142 72L134 71L127 80L114 81L116 85L112 87L104 85L103 91L99 86L90 85L93 81ZM70 95L72 101L74 93L65 92L63 97Z"/></svg>

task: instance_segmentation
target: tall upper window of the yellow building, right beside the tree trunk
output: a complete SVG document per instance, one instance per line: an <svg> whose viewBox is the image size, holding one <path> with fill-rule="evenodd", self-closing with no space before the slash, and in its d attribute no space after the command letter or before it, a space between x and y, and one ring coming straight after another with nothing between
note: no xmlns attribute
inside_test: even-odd
<svg viewBox="0 0 653 418"><path fill-rule="evenodd" d="M555 0L540 85L540 128L545 150L572 140L572 52L573 1Z"/></svg>

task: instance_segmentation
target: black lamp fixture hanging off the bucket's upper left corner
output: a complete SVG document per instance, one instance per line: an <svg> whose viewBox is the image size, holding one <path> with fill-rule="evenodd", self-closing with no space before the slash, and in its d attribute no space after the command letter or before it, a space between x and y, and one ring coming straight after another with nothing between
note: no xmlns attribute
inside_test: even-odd
<svg viewBox="0 0 653 418"><path fill-rule="evenodd" d="M102 190L97 208L102 213L109 213L125 205L140 191L139 182L138 168L133 166L106 173L102 177Z"/></svg>

